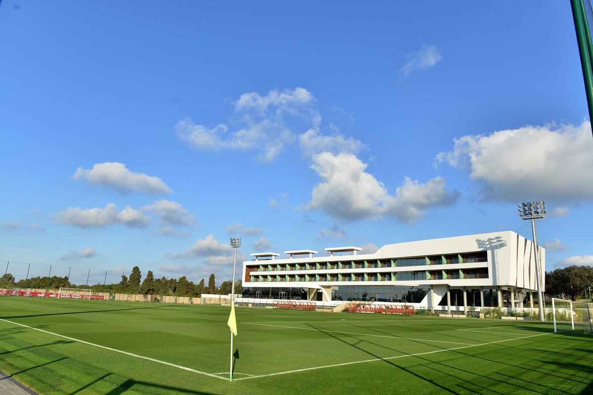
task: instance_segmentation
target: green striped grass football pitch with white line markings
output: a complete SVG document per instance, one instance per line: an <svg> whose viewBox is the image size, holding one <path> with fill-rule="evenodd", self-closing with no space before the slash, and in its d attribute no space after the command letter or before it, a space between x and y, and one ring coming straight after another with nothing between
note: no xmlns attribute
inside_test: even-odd
<svg viewBox="0 0 593 395"><path fill-rule="evenodd" d="M46 394L591 394L551 323L0 297L0 370Z"/></svg>

